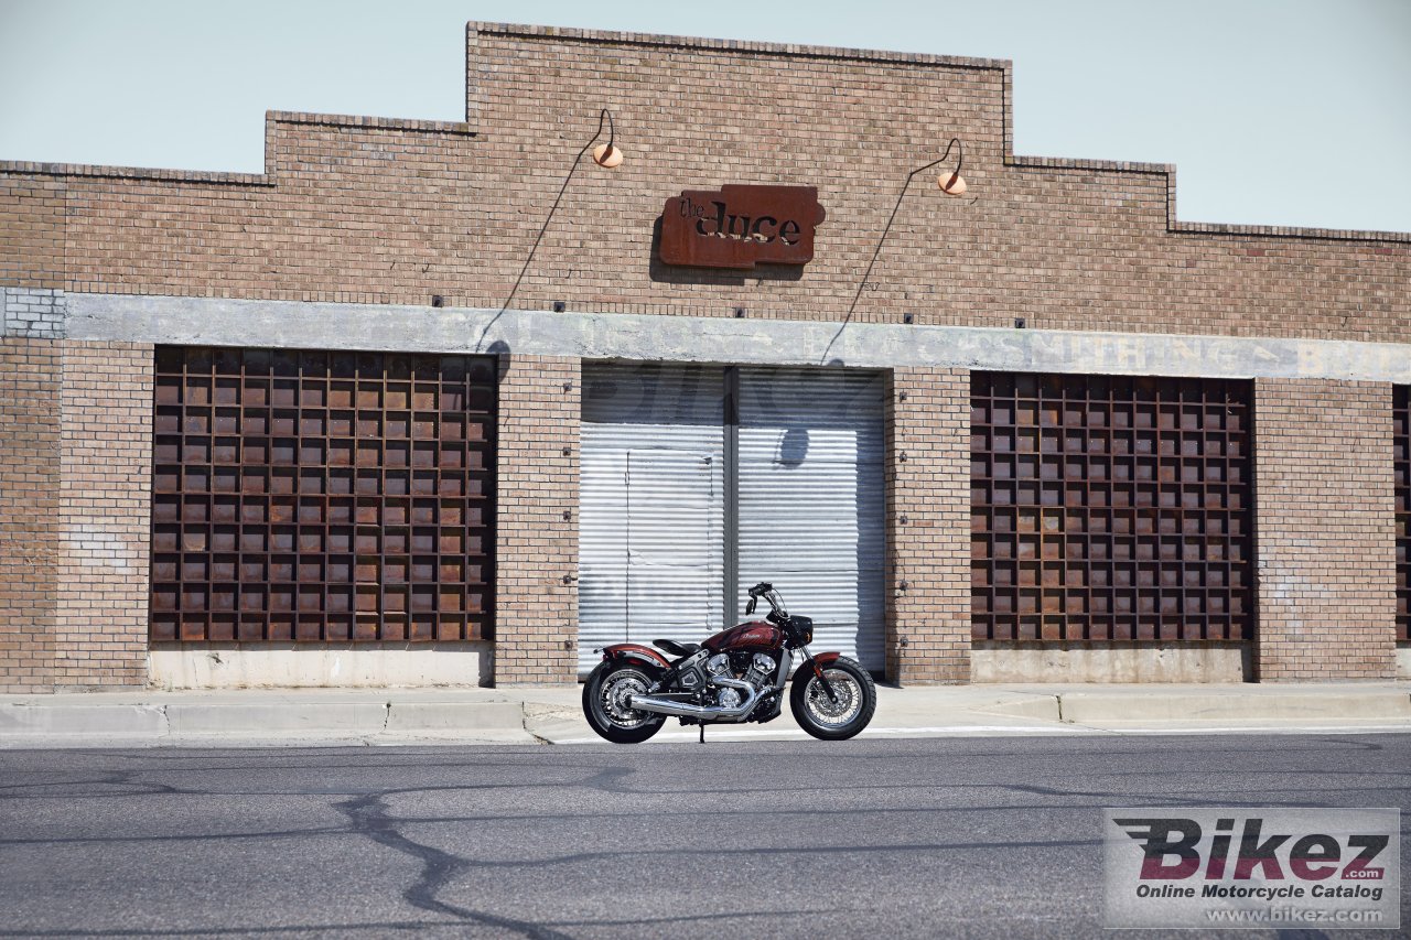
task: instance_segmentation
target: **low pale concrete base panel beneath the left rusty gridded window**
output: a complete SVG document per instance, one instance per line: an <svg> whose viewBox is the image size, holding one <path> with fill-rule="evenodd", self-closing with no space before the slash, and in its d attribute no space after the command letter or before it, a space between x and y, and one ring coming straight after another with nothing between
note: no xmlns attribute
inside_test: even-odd
<svg viewBox="0 0 1411 940"><path fill-rule="evenodd" d="M159 644L148 655L157 689L373 689L488 686L494 645Z"/></svg>

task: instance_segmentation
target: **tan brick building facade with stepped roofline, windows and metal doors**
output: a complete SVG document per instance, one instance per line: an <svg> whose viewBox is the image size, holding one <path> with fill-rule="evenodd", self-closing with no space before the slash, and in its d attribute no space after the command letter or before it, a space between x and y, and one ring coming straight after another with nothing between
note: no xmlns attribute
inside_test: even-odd
<svg viewBox="0 0 1411 940"><path fill-rule="evenodd" d="M570 682L618 601L672 627L634 572L731 620L789 567L751 481L809 521L816 466L856 543L775 580L892 680L1411 670L1411 236L1016 155L1007 62L471 24L466 88L466 123L271 113L264 174L0 164L0 687ZM903 189L952 137L965 196ZM811 261L663 264L663 202L729 183L816 186ZM875 408L768 408L844 377ZM717 380L720 435L680 416ZM701 429L652 464L700 512L636 511L704 567L690 529L590 565L612 460Z"/></svg>

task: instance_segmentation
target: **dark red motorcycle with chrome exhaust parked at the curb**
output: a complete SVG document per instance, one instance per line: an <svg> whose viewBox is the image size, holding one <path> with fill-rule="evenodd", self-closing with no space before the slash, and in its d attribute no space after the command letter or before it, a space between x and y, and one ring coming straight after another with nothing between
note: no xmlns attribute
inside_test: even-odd
<svg viewBox="0 0 1411 940"><path fill-rule="evenodd" d="M811 653L813 620L790 615L773 584L749 589L745 615L759 598L769 603L762 621L724 629L704 644L653 639L652 645L615 644L594 652L602 662L583 686L583 711L598 735L636 744L656 734L669 716L683 725L761 724L783 709L794 653L789 709L799 727L824 741L842 741L868 727L876 711L876 686L856 662L837 652Z"/></svg>

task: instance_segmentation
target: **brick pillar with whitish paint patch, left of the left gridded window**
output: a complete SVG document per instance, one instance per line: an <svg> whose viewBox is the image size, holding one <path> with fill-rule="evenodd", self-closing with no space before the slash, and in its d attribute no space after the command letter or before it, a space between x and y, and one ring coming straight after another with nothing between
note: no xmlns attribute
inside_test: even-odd
<svg viewBox="0 0 1411 940"><path fill-rule="evenodd" d="M152 347L63 343L54 683L147 680Z"/></svg>

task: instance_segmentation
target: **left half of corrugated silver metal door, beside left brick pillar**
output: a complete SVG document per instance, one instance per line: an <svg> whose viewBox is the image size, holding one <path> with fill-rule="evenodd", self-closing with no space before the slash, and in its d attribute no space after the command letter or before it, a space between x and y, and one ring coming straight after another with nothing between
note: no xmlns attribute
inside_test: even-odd
<svg viewBox="0 0 1411 940"><path fill-rule="evenodd" d="M615 642L724 625L724 380L718 368L586 366L579 672Z"/></svg>

